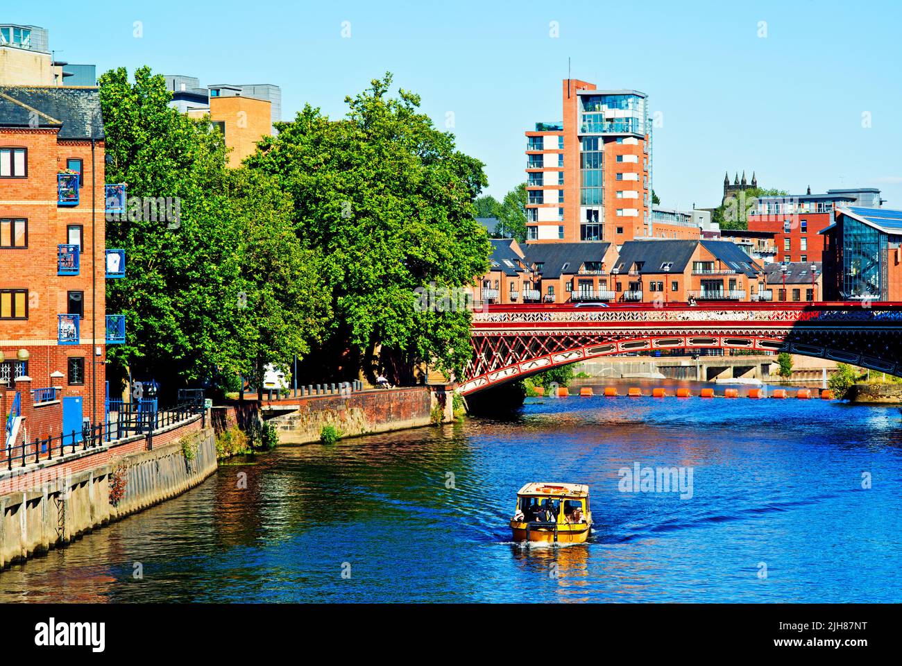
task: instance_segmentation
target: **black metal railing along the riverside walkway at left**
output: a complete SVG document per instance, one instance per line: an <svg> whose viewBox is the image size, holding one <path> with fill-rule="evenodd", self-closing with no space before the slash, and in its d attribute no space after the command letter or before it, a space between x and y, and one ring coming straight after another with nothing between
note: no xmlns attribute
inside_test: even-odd
<svg viewBox="0 0 902 666"><path fill-rule="evenodd" d="M139 409L139 404L124 402L119 405L119 412L115 420L99 423L93 427L85 427L82 430L64 432L55 437L46 439L33 439L31 442L5 447L0 449L0 462L5 463L6 469L24 467L41 460L53 460L76 451L96 449L106 442L125 439L133 435L144 435L147 438L148 449L153 448L154 430L162 430L172 425L178 425L189 421L198 414L201 415L202 427L207 426L207 412L203 404L187 402L168 410L147 411Z"/></svg>

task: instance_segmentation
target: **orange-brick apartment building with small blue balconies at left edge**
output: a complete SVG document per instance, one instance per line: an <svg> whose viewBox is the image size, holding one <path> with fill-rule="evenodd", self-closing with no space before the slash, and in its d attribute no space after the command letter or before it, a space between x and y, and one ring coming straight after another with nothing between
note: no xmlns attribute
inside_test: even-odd
<svg viewBox="0 0 902 666"><path fill-rule="evenodd" d="M106 317L124 253L106 250L105 210L97 88L0 87L0 394L29 439L105 415L106 344L124 341Z"/></svg>

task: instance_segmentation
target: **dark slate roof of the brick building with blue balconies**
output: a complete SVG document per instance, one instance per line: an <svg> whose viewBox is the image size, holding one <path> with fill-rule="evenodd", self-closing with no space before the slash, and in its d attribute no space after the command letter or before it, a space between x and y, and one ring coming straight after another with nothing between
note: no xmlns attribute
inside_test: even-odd
<svg viewBox="0 0 902 666"><path fill-rule="evenodd" d="M59 127L60 139L103 139L97 88L0 86L0 126Z"/></svg>

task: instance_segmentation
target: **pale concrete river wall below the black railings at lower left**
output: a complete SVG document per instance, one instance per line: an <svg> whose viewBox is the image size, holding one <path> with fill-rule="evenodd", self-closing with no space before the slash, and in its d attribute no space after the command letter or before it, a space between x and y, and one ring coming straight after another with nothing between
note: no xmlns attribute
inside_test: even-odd
<svg viewBox="0 0 902 666"><path fill-rule="evenodd" d="M0 475L0 569L179 495L216 471L212 428L186 426ZM192 427L194 426L194 427ZM130 446L131 445L131 446Z"/></svg>

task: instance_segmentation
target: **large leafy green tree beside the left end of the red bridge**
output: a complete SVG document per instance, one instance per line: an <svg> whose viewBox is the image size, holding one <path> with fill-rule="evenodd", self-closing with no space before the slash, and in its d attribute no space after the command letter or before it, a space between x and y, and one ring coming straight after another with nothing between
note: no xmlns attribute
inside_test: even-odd
<svg viewBox="0 0 902 666"><path fill-rule="evenodd" d="M461 288L488 269L491 245L473 205L483 163L456 150L454 135L419 111L419 96L391 97L390 88L391 74L374 79L345 98L339 120L305 106L245 163L278 180L299 236L322 258L334 311L318 354L324 372L349 377L362 364L372 377L378 353L400 380L422 362L459 376L470 312L423 308L418 290Z"/></svg>

